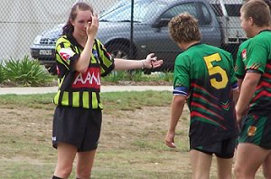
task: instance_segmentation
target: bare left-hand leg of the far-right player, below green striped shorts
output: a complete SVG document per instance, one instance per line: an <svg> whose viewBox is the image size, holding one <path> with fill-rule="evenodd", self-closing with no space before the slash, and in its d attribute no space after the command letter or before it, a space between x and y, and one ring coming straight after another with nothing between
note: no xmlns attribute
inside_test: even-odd
<svg viewBox="0 0 271 179"><path fill-rule="evenodd" d="M257 169L266 159L268 150L249 143L238 144L234 174L237 179L254 179Z"/></svg>

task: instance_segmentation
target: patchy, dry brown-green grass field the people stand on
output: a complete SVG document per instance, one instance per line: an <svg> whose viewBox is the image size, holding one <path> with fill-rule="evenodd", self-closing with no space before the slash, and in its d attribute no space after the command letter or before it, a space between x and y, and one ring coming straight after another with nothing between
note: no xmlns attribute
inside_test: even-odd
<svg viewBox="0 0 271 179"><path fill-rule="evenodd" d="M56 165L52 97L0 96L0 178L51 178ZM177 127L178 147L164 145L171 92L110 92L101 98L105 109L92 178L191 178L187 108ZM210 178L216 178L215 157ZM263 178L260 172L257 178Z"/></svg>

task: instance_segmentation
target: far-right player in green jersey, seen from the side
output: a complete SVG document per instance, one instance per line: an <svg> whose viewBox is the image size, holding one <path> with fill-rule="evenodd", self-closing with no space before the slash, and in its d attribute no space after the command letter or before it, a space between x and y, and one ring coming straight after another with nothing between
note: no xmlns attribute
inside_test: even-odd
<svg viewBox="0 0 271 179"><path fill-rule="evenodd" d="M271 32L270 9L263 0L249 0L240 10L241 26L247 33L238 52L237 77L240 97L236 106L239 137L235 174L255 178L263 164L266 178L271 176ZM240 56L241 54L241 56ZM242 60L242 61L241 61ZM249 108L248 108L249 106Z"/></svg>

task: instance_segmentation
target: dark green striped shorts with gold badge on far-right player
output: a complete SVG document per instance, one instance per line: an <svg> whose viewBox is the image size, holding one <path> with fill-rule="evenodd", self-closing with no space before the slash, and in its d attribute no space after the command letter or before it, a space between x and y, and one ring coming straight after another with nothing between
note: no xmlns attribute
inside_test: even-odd
<svg viewBox="0 0 271 179"><path fill-rule="evenodd" d="M238 142L271 149L271 116L249 114L244 118Z"/></svg>

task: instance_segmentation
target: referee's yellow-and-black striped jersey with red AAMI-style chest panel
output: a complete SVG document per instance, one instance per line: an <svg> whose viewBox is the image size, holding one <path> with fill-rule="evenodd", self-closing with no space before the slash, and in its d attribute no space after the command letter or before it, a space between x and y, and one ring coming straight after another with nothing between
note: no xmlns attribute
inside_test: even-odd
<svg viewBox="0 0 271 179"><path fill-rule="evenodd" d="M89 49L89 68L80 73L74 70L74 64L83 49L72 35L62 35L56 42L59 89L53 102L75 108L103 108L99 99L101 77L114 70L114 60L103 44L95 40Z"/></svg>

